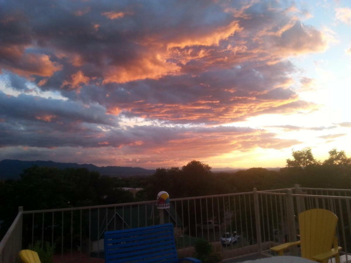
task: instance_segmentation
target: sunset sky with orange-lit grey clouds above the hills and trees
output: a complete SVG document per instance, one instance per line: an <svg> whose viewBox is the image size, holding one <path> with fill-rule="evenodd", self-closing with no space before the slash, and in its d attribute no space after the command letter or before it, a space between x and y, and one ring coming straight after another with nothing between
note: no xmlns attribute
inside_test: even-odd
<svg viewBox="0 0 351 263"><path fill-rule="evenodd" d="M0 160L351 157L351 3L0 0Z"/></svg>

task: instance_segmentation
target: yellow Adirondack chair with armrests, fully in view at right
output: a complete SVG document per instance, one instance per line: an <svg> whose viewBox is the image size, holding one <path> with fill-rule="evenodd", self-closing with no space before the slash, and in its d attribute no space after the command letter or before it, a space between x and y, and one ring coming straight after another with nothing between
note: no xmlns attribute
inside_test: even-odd
<svg viewBox="0 0 351 263"><path fill-rule="evenodd" d="M327 263L335 256L340 263L338 239L335 229L338 217L325 209L311 209L299 214L300 241L289 242L271 248L283 256L284 250L295 245L301 246L301 256L313 261ZM333 246L333 248L332 248Z"/></svg>

